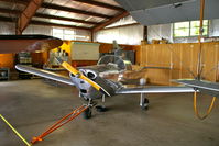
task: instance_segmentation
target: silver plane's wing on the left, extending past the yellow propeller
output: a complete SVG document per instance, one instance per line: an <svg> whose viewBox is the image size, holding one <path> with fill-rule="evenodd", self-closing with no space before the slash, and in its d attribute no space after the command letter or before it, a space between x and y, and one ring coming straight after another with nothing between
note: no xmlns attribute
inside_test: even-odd
<svg viewBox="0 0 219 146"><path fill-rule="evenodd" d="M55 81L59 81L66 85L70 85L74 86L73 81L70 80L69 77L59 75L59 74L55 74L52 71L47 71L44 69L39 69L39 68L34 68L34 67L30 67L30 66L24 66L24 65L17 65L15 68L20 71L24 71L24 72L29 72L29 74L33 74L43 78L47 78L47 79L52 79Z"/></svg>

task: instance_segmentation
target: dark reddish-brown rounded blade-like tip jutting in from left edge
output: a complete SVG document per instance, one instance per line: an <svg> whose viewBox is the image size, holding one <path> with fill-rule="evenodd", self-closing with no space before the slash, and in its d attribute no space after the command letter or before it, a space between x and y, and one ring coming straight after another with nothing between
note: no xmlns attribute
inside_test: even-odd
<svg viewBox="0 0 219 146"><path fill-rule="evenodd" d="M43 52L62 44L62 40L47 35L0 35L0 54Z"/></svg>

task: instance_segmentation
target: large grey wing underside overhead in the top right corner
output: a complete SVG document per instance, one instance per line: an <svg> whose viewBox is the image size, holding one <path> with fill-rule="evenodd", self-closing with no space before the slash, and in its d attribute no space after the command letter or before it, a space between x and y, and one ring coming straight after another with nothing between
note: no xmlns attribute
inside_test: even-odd
<svg viewBox="0 0 219 146"><path fill-rule="evenodd" d="M200 0L116 0L143 25L167 24L199 19ZM205 19L218 19L219 0L205 1Z"/></svg>

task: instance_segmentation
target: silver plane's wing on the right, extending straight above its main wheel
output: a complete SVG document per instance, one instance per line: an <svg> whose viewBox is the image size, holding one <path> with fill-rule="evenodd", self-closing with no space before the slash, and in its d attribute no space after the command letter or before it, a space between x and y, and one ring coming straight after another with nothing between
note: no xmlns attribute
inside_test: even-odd
<svg viewBox="0 0 219 146"><path fill-rule="evenodd" d="M179 92L195 92L191 87L166 87L166 86L153 86L153 87L140 87L140 88L122 88L116 93L179 93Z"/></svg>

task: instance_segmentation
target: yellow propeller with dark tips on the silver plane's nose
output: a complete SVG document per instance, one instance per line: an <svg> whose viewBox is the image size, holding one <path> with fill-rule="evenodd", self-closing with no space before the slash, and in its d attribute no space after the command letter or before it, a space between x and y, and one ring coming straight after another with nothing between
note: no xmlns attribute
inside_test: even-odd
<svg viewBox="0 0 219 146"><path fill-rule="evenodd" d="M98 91L111 97L111 94L100 85L98 85L97 82L92 81L91 79L89 79L88 77L84 76L80 71L78 71L76 68L74 68L72 65L69 65L67 61L62 60L61 58L56 57L56 60L65 68L67 69L70 74L73 74L75 77L80 78L85 81L87 81L88 83L90 83L90 86L92 86L95 89L97 89Z"/></svg>

